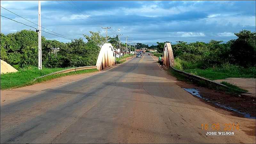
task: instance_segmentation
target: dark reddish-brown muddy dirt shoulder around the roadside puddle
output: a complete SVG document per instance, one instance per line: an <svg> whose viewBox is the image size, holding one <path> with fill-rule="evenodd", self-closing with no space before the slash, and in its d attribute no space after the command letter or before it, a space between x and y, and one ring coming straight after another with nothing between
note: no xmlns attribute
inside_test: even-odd
<svg viewBox="0 0 256 144"><path fill-rule="evenodd" d="M156 61L158 60L158 57L152 56ZM164 66L164 70L167 71L167 67ZM247 114L250 114L251 117L256 117L256 99L255 97L248 97L243 95L228 95L225 92L222 91L216 91L207 87L200 87L196 84L190 83L190 82L184 82L180 80L176 80L177 85L181 88L194 88L199 91L199 94L201 97L204 97L208 100L203 100L202 98L199 98L202 102L205 102L213 107L216 108L216 111L223 113L223 114L230 114L237 117L244 117L243 114L239 114L233 110L227 110L225 108L222 108L216 104L224 105L226 107L231 107L233 109L236 109L240 112L244 112ZM195 96L196 97L196 96Z"/></svg>

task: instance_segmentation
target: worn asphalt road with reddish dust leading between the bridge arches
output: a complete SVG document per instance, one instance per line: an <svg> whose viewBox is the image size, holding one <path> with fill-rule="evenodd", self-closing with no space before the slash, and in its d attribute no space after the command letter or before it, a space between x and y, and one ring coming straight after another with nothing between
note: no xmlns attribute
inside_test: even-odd
<svg viewBox="0 0 256 144"><path fill-rule="evenodd" d="M175 84L148 54L1 107L1 143L255 143L206 136L201 124L236 123ZM240 118L241 120L241 118ZM243 120L243 119L242 119ZM244 118L245 121L253 122Z"/></svg>

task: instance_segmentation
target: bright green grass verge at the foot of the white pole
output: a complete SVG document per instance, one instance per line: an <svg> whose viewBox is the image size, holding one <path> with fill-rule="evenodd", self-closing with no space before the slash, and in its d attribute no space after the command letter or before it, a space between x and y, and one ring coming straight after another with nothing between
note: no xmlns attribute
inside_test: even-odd
<svg viewBox="0 0 256 144"><path fill-rule="evenodd" d="M61 71L64 69L68 69L68 68L44 68L43 67L42 70L38 70L37 67L30 66L30 67L19 69L19 72L1 74L0 76L1 90L9 89L9 88L24 87L24 86L32 85L34 83L38 83L41 81L36 80L33 83L32 81L37 77L40 77L52 72ZM78 74L79 72L80 71L77 71L76 74ZM70 72L70 74L73 74L73 72L72 73ZM58 75L48 76L49 78L48 77L42 78L42 81L52 80L54 78L61 77L63 74L58 74Z"/></svg>

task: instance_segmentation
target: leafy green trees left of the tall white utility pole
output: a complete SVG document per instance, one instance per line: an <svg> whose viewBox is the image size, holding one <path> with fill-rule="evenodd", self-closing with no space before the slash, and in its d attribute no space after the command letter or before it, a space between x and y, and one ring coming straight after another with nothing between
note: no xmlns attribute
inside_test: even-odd
<svg viewBox="0 0 256 144"><path fill-rule="evenodd" d="M42 43L45 38L42 37ZM22 30L15 34L1 34L1 59L14 67L37 65L38 36L35 31Z"/></svg>

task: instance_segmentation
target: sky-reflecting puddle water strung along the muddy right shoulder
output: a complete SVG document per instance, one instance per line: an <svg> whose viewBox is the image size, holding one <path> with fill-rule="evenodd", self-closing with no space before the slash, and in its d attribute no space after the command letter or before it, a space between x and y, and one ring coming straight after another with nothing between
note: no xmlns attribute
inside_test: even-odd
<svg viewBox="0 0 256 144"><path fill-rule="evenodd" d="M202 96L199 94L198 89L195 89L195 88L183 88L183 89L184 89L185 91L189 92L191 95L195 95L195 96L200 97L200 98L202 98L202 99L204 99L204 100L209 100L209 99L206 99L206 98L202 97ZM227 110L236 111L236 112L238 112L238 113L244 115L244 117L246 117L246 118L253 118L253 119L256 119L256 117L251 117L250 114L247 114L247 113L238 111L238 110L236 110L236 109L234 109L234 108L226 107L226 106L221 105L221 104L219 104L219 103L214 103L214 104L215 104L215 105L218 105L219 107L225 108L225 109L227 109Z"/></svg>

